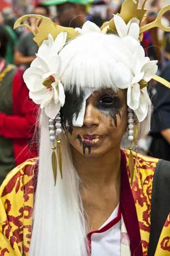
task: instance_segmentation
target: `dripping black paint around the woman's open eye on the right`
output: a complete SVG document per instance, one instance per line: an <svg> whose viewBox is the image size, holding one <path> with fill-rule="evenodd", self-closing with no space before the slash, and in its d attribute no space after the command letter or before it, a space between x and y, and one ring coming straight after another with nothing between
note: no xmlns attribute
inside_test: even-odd
<svg viewBox="0 0 170 256"><path fill-rule="evenodd" d="M121 118L121 107L122 104L120 102L120 99L118 99L118 97L116 96L112 96L109 94L102 96L97 104L97 108L102 114L111 117L110 126L113 126L112 120L114 120L115 127L117 127L117 116Z"/></svg>

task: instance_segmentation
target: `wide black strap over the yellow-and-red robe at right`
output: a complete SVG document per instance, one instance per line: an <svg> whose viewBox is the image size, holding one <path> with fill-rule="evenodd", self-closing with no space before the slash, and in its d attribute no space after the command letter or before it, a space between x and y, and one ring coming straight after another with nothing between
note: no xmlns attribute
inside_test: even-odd
<svg viewBox="0 0 170 256"><path fill-rule="evenodd" d="M170 162L160 159L153 176L150 240L147 256L154 256L162 228L170 213Z"/></svg>

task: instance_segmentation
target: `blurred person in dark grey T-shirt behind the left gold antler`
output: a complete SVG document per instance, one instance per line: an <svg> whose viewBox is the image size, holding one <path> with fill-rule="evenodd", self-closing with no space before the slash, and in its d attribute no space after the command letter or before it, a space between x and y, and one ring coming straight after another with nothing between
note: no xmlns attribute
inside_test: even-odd
<svg viewBox="0 0 170 256"><path fill-rule="evenodd" d="M45 17L50 16L48 7L41 4L35 6L34 14L43 15ZM30 18L29 21L30 26L32 26L35 29L36 20L34 18ZM31 62L36 58L35 53L37 53L38 51L38 46L35 43L35 41L33 41L34 37L35 36L32 34L32 32L28 32L20 38L19 45L14 53L14 63L16 65L23 66L26 69L30 66Z"/></svg>

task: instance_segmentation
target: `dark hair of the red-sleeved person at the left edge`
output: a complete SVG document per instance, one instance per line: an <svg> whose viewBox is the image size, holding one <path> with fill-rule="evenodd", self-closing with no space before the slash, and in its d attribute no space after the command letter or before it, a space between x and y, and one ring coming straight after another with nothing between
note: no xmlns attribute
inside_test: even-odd
<svg viewBox="0 0 170 256"><path fill-rule="evenodd" d="M5 58L9 35L3 25L0 25L0 57Z"/></svg>

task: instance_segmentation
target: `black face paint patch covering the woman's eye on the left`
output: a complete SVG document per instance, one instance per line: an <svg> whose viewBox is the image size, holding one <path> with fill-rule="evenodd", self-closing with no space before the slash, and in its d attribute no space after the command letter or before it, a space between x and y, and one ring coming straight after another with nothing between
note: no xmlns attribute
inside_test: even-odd
<svg viewBox="0 0 170 256"><path fill-rule="evenodd" d="M72 93L69 91L65 92L65 104L61 108L61 119L63 123L63 128L66 131L67 126L73 125L72 119L75 114L75 120L78 118L78 114L82 109L82 103L84 100L84 92L81 91L80 95L77 96L75 90Z"/></svg>

